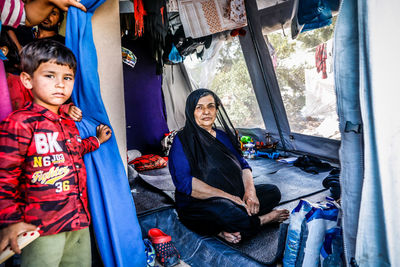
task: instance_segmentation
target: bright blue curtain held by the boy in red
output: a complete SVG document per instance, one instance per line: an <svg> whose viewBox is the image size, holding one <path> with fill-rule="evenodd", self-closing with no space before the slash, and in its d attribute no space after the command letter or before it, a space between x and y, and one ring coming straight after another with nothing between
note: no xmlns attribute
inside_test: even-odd
<svg viewBox="0 0 400 267"><path fill-rule="evenodd" d="M95 135L100 123L110 125L97 73L91 19L104 0L82 0L87 13L69 8L66 46L77 57L73 102L83 112L77 123L83 138ZM116 18L117 19L117 18ZM89 205L97 245L105 266L145 266L144 244L125 168L114 135L84 157Z"/></svg>

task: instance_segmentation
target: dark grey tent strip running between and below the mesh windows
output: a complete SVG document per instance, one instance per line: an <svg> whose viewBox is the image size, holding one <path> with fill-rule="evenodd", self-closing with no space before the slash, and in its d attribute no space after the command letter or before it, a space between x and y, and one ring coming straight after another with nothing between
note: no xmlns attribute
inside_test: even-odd
<svg viewBox="0 0 400 267"><path fill-rule="evenodd" d="M288 17L287 9L290 3L284 5L287 5L283 10L286 10L285 16ZM256 0L246 1L246 10L248 34L240 38L240 44L267 131L271 132L273 137L280 139L281 147L285 150L338 160L339 141L291 132L262 32L261 25L266 23L264 18L266 10L259 11Z"/></svg>

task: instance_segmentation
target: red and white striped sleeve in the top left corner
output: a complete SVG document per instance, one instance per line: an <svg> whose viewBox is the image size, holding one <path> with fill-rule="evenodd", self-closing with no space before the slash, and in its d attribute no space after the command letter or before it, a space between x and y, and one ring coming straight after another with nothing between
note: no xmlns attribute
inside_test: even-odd
<svg viewBox="0 0 400 267"><path fill-rule="evenodd" d="M25 10L22 0L0 0L1 23L18 27L25 23Z"/></svg>

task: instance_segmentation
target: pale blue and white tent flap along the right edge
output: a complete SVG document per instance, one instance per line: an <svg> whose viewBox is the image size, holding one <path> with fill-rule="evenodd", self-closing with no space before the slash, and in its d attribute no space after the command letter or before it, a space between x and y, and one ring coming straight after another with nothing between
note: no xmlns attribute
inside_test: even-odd
<svg viewBox="0 0 400 267"><path fill-rule="evenodd" d="M344 245L359 266L400 264L399 10L343 0L335 30Z"/></svg>

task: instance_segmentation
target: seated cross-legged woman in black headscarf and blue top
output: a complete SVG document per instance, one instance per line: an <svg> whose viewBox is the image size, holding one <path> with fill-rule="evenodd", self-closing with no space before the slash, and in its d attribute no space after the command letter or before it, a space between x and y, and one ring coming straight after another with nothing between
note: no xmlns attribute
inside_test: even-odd
<svg viewBox="0 0 400 267"><path fill-rule="evenodd" d="M266 223L289 218L288 210L273 210L281 198L276 186L254 186L251 168L218 96L208 89L192 92L185 115L185 127L169 154L183 224L199 234L238 243ZM224 131L213 128L217 116Z"/></svg>

